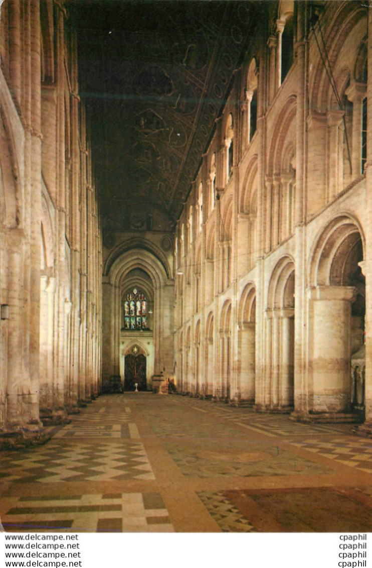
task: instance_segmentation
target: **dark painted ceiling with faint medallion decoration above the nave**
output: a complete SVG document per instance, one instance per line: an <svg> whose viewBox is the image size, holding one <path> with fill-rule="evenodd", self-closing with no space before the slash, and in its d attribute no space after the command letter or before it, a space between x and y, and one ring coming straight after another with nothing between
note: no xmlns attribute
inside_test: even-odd
<svg viewBox="0 0 372 568"><path fill-rule="evenodd" d="M69 3L104 228L129 228L133 211L138 229L157 212L174 228L262 6Z"/></svg>

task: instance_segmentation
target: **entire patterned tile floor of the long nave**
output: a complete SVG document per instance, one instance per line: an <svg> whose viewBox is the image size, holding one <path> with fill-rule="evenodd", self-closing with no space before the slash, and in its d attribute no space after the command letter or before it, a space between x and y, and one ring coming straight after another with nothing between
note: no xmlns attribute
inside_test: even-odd
<svg viewBox="0 0 372 568"><path fill-rule="evenodd" d="M1 520L6 531L367 531L372 441L351 428L104 395L48 428L45 445L3 453Z"/></svg>

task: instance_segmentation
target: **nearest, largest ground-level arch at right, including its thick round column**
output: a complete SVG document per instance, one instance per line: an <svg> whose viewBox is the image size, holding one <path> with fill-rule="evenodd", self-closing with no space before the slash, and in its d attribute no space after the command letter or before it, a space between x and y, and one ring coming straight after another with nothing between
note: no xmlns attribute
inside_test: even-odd
<svg viewBox="0 0 372 568"><path fill-rule="evenodd" d="M357 372L365 361L363 250L361 227L348 214L328 223L312 250L309 406L318 414L364 412L364 377Z"/></svg>

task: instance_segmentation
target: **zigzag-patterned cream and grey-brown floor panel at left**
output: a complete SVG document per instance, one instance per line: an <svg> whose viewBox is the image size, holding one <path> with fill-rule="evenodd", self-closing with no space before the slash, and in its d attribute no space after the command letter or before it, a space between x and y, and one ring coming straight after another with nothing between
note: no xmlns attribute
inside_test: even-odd
<svg viewBox="0 0 372 568"><path fill-rule="evenodd" d="M50 442L25 457L16 454L1 461L0 475L19 483L154 479L140 442L63 445Z"/></svg>

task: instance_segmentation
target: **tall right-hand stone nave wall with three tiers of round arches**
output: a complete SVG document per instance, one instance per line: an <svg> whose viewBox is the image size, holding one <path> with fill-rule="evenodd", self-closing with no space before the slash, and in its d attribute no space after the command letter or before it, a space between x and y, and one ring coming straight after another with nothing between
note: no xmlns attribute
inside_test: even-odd
<svg viewBox="0 0 372 568"><path fill-rule="evenodd" d="M372 85L371 16L353 2L286 4L295 22L289 71L281 74L281 37L293 20L273 12L271 33L252 41L235 73L177 224L177 383L204 396L207 376L216 400L303 420L358 420L350 358L365 325L369 423L372 121L363 123L362 110Z"/></svg>

